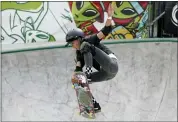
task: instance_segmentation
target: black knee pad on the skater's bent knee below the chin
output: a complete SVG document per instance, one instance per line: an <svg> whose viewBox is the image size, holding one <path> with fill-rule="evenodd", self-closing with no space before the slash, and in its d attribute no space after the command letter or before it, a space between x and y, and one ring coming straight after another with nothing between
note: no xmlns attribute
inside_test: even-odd
<svg viewBox="0 0 178 122"><path fill-rule="evenodd" d="M90 52L92 55L95 55L95 47L88 42L81 44L80 51L82 54Z"/></svg>

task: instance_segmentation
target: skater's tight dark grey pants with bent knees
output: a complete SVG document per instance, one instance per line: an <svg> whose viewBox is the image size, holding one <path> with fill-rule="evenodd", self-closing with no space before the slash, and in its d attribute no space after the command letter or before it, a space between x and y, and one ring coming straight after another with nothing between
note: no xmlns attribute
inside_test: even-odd
<svg viewBox="0 0 178 122"><path fill-rule="evenodd" d="M91 82L106 81L114 78L118 72L117 58L110 57L101 49L91 48L88 42L83 42L80 49L84 53L84 61L86 67L93 66L93 58L101 66L101 70L91 73Z"/></svg>

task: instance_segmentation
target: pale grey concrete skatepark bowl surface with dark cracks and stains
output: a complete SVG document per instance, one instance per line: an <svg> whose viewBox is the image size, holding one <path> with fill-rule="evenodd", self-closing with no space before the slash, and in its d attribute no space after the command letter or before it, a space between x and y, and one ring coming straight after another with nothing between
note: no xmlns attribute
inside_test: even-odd
<svg viewBox="0 0 178 122"><path fill-rule="evenodd" d="M177 121L177 42L163 40L106 44L119 72L90 84L95 119L78 115L71 47L2 53L2 121Z"/></svg>

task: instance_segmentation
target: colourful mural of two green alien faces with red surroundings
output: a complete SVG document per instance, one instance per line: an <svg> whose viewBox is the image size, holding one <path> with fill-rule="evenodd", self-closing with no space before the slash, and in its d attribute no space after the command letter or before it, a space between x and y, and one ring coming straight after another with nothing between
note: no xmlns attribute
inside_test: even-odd
<svg viewBox="0 0 178 122"><path fill-rule="evenodd" d="M107 18L108 5L110 2L69 2L70 10L76 26L81 28L86 35L98 32ZM113 1L116 8L112 32L105 39L133 39L146 38L145 23L148 20L148 2ZM97 23L97 24L96 24ZM97 29L96 25L103 23Z"/></svg>

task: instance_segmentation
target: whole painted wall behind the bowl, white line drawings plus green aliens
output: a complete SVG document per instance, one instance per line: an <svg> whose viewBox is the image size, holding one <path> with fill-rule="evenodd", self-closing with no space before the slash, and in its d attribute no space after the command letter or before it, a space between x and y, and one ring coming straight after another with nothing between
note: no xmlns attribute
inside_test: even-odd
<svg viewBox="0 0 178 122"><path fill-rule="evenodd" d="M81 28L86 35L98 32L107 19L109 2L1 2L2 44L65 42L67 30ZM119 2L113 31L105 39L146 38L148 2Z"/></svg>

